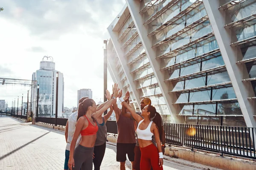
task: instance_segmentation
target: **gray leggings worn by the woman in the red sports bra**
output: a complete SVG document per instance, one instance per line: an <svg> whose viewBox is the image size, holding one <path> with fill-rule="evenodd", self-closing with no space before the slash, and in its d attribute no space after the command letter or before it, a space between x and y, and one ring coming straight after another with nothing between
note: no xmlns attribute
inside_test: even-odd
<svg viewBox="0 0 256 170"><path fill-rule="evenodd" d="M75 167L72 167L72 170L92 170L93 150L94 147L84 147L79 144L74 151Z"/></svg>

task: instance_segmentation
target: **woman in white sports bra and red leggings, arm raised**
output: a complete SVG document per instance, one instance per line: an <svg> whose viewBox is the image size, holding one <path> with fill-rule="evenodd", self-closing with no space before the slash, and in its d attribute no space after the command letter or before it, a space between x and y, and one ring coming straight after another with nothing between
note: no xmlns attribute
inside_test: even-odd
<svg viewBox="0 0 256 170"><path fill-rule="evenodd" d="M127 96L125 96L127 97ZM141 116L135 113L124 99L120 102L131 112L131 116L138 122L136 133L140 144L141 159L140 170L163 170L163 152L161 147L161 135L163 134L161 118L156 114L154 106L147 105L142 110ZM157 147L152 143L152 136L155 136Z"/></svg>

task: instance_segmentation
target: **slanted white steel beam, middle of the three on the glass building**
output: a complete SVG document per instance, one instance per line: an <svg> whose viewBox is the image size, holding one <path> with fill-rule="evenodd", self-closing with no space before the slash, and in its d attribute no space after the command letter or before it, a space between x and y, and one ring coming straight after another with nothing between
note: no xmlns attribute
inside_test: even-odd
<svg viewBox="0 0 256 170"><path fill-rule="evenodd" d="M176 102L177 97L173 93L168 94L169 88L173 89L172 83L164 82L164 71L160 71L160 60L156 59L156 49L152 48L152 37L148 36L147 24L143 24L143 16L140 14L140 2L134 0L126 0L126 3L145 48L145 52L148 56L151 67L154 71L154 75L157 78L157 82L163 94L163 98L166 102L169 112L171 113L172 122L182 123L182 117L177 116L177 112L180 110L179 106L172 104Z"/></svg>

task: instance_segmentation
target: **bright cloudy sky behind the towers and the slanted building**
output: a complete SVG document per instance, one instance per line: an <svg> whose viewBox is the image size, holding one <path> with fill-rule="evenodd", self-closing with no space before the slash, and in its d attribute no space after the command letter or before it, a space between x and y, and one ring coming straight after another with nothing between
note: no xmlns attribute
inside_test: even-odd
<svg viewBox="0 0 256 170"><path fill-rule="evenodd" d="M0 0L0 77L32 79L44 56L64 74L64 107L76 106L77 90L91 88L103 101L103 40L125 0ZM112 91L108 73L108 89ZM29 87L0 85L12 100ZM24 95L26 96L26 95Z"/></svg>

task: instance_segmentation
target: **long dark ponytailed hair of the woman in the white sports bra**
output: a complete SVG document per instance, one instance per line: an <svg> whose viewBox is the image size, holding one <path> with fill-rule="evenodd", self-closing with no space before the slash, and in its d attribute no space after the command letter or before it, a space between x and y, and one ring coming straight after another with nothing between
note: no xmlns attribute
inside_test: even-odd
<svg viewBox="0 0 256 170"><path fill-rule="evenodd" d="M163 127L162 127L161 116L156 111L156 108L154 106L148 105L147 111L150 112L150 115L149 115L150 120L152 120L157 125L160 141L162 141Z"/></svg>

